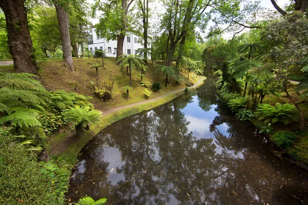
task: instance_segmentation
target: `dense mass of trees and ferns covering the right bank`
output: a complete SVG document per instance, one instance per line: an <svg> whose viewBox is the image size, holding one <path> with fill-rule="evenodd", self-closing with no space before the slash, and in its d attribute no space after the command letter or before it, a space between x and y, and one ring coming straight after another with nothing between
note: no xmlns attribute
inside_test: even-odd
<svg viewBox="0 0 308 205"><path fill-rule="evenodd" d="M225 59L233 56L232 60L225 60L222 67L215 67L221 63L215 59L219 47L204 52L205 61L208 55L214 56L209 60L219 78L216 86L221 101L240 120L251 120L277 146L305 163L308 42L303 36L307 23L304 13L295 11L243 34L234 47L237 52L230 50L225 55ZM234 42L218 40L220 45L234 46Z"/></svg>

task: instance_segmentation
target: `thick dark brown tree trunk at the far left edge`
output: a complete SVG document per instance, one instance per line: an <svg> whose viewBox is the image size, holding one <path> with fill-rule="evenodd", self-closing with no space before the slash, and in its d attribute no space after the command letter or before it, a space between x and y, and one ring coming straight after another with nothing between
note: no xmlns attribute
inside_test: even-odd
<svg viewBox="0 0 308 205"><path fill-rule="evenodd" d="M24 0L1 0L8 31L8 45L17 73L37 75L37 67L33 58L32 40L27 20L27 9Z"/></svg>

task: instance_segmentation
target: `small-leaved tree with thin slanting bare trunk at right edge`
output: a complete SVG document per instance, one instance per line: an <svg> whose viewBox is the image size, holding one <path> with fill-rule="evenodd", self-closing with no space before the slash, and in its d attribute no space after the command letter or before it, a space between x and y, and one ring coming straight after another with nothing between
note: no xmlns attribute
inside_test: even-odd
<svg viewBox="0 0 308 205"><path fill-rule="evenodd" d="M267 25L262 34L264 43L268 47L267 68L275 73L274 81L280 91L296 107L301 116L300 129L304 129L304 113L288 92L290 82L287 76L298 71L301 72L302 61L308 53L308 19L303 12L293 11Z"/></svg>

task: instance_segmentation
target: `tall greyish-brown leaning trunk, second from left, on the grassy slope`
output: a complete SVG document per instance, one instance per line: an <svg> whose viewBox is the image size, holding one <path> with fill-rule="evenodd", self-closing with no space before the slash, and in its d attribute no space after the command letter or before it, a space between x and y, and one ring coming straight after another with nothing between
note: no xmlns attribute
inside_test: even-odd
<svg viewBox="0 0 308 205"><path fill-rule="evenodd" d="M56 15L59 22L64 65L69 71L75 72L68 27L68 13L60 3L54 2L53 4L55 6Z"/></svg>

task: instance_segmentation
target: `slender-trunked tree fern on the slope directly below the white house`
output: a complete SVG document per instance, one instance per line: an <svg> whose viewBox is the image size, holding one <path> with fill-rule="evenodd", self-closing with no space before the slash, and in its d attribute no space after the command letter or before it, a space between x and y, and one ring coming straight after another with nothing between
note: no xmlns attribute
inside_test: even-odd
<svg viewBox="0 0 308 205"><path fill-rule="evenodd" d="M142 65L144 64L143 61L139 58L139 55L120 55L118 60L117 60L117 64L121 63L121 66L123 67L123 65L128 65L129 68L129 85L131 86L131 72L133 71L133 69L138 69L141 70Z"/></svg>

